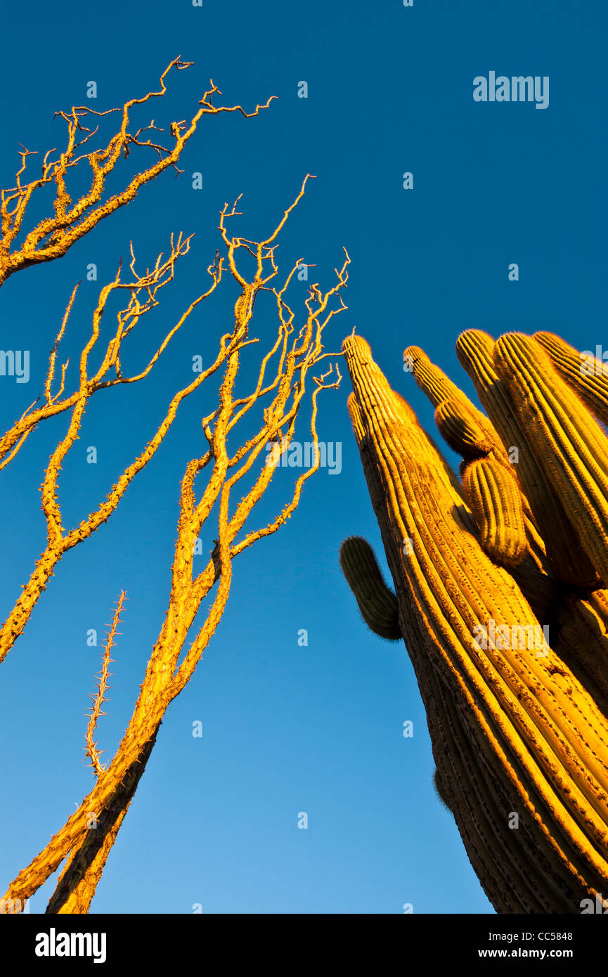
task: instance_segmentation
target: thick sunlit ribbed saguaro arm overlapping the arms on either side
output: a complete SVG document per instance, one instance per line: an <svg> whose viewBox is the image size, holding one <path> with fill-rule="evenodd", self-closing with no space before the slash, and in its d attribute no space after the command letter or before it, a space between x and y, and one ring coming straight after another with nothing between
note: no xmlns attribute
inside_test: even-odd
<svg viewBox="0 0 608 977"><path fill-rule="evenodd" d="M495 365L586 555L608 583L608 443L604 433L530 336L516 332L501 336Z"/></svg>

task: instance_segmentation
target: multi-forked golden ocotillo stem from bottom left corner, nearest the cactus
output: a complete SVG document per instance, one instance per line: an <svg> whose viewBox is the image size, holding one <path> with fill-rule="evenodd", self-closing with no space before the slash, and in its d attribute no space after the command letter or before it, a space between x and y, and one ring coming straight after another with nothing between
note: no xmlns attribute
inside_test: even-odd
<svg viewBox="0 0 608 977"><path fill-rule="evenodd" d="M300 197L301 192L296 202ZM275 239L291 209L292 207L284 212L279 229L269 240ZM223 212L222 220L225 216ZM256 254L262 253L262 262L261 266L258 265L253 280L247 280L239 271L236 260L239 248L244 245L239 238L229 238L225 228L223 236L229 252L228 264L241 291L235 305L233 332L224 336L221 342L224 375L219 387L218 404L212 414L203 419L209 449L201 457L194 457L187 463L182 480L169 600L140 694L122 741L109 765L99 773L96 785L78 810L68 818L64 828L20 872L8 890L7 895L11 898L24 900L67 858L60 885L49 903L48 912L87 912L109 848L150 755L166 708L192 678L196 664L224 612L230 594L233 559L258 539L281 528L295 510L304 482L319 467L317 400L321 390L335 388L339 384L340 372L337 368L335 380L332 382L331 368L320 377L314 378L315 389L310 398L314 464L295 480L289 498L277 517L268 525L249 531L239 540L239 532L245 527L252 509L271 483L275 465L269 464L267 458L264 459L252 487L239 500L232 513L231 491L244 476L254 471L255 463L259 464L264 448L280 437L283 430L286 431L287 441L293 437L296 419L304 403L307 375L327 356L323 352L323 330L332 313L345 308L339 291L346 286L346 266L349 259L347 255L342 269L336 272L337 283L325 293L319 293L318 308L313 309L309 301L305 303L305 322L290 348L285 344L285 337L292 330L292 323L286 328L281 322L278 340L273 342L270 352L261 358L259 365L259 377L263 377L272 357L279 354L280 368L276 380L271 387L265 388L263 380L258 379L254 393L243 399L236 396L235 385L243 351L254 343L249 337L249 330L255 295L264 287L264 281L268 280L265 278L265 263L270 262L270 276L276 274L276 267L273 267L274 256L260 252L259 245L248 242L248 246ZM330 313L328 302L336 295L339 299L338 308ZM322 319L325 312L325 319ZM214 365L219 365L219 359ZM227 438L229 434L234 436L238 420L254 404L263 406L264 392L274 392L274 397L261 411L259 432L253 439L245 441L231 458ZM244 411L241 409L243 406L246 408ZM236 470L229 477L231 463ZM196 480L203 471L206 471L207 481L204 488L199 490L196 488ZM57 516L54 517L52 512L51 495L49 489L49 513L57 522ZM208 524L212 511L217 513L215 529ZM213 533L214 545L204 569L195 573L195 544L203 527L210 534ZM215 593L205 619L200 626L196 625L195 638L183 654L201 602L214 587ZM88 828L91 812L95 812L98 828Z"/></svg>

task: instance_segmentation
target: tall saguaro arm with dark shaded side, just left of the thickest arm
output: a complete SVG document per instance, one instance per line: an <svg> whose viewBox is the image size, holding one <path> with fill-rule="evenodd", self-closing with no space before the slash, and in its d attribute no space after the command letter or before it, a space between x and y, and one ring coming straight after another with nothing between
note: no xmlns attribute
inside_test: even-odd
<svg viewBox="0 0 608 977"><path fill-rule="evenodd" d="M456 341L458 360L471 377L503 446L507 451L517 449L514 474L543 537L548 569L566 583L588 588L597 586L598 575L541 464L538 446L530 441L507 387L499 378L494 349L494 339L479 329L468 329Z"/></svg>

